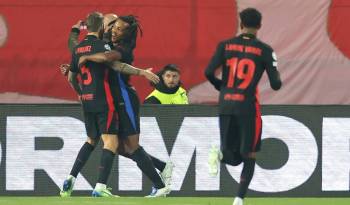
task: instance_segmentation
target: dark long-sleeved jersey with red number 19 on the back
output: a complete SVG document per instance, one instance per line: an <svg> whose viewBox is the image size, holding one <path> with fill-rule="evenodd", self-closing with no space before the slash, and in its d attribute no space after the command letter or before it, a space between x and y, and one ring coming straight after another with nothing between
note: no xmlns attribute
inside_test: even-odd
<svg viewBox="0 0 350 205"><path fill-rule="evenodd" d="M215 70L222 66L222 79ZM266 70L271 87L281 87L273 49L252 34L241 34L218 44L207 69L208 80L220 90L220 114L254 114L257 86Z"/></svg>

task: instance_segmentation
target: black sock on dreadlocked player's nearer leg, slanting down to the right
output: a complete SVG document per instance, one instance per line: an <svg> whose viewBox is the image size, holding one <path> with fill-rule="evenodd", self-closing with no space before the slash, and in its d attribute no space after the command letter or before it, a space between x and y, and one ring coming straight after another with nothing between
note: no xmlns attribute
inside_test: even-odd
<svg viewBox="0 0 350 205"><path fill-rule="evenodd" d="M131 154L131 159L136 162L142 172L153 182L155 188L161 189L165 187L162 179L154 168L151 158L141 146Z"/></svg>

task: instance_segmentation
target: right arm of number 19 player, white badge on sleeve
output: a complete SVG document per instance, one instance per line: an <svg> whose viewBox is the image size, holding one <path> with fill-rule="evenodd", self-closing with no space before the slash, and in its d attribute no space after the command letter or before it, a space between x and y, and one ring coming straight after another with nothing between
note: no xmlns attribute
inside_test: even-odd
<svg viewBox="0 0 350 205"><path fill-rule="evenodd" d="M279 90L282 87L282 81L280 73L277 70L276 53L272 49L269 50L265 56L265 59L265 69L270 81L270 86L274 90Z"/></svg>

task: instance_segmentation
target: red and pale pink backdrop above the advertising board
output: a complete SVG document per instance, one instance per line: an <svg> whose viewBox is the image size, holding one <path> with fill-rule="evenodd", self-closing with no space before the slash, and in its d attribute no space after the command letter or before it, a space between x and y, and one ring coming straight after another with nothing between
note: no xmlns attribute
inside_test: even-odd
<svg viewBox="0 0 350 205"><path fill-rule="evenodd" d="M0 93L76 100L58 65L70 61L71 26L99 10L138 15L144 36L138 41L134 64L159 70L176 63L191 102L214 102L217 93L206 83L203 70L218 41L237 33L237 12L254 6L264 14L259 37L276 50L284 81L283 89L274 93L264 78L262 102L347 104L349 5L347 0L2 0L7 40L0 48ZM151 88L143 79L133 82L144 99Z"/></svg>

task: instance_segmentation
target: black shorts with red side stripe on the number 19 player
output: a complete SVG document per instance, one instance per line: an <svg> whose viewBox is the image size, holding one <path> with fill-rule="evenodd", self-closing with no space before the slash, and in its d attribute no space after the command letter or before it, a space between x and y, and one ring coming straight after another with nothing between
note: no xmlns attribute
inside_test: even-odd
<svg viewBox="0 0 350 205"><path fill-rule="evenodd" d="M261 115L220 115L221 149L239 152L260 151Z"/></svg>

